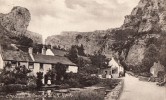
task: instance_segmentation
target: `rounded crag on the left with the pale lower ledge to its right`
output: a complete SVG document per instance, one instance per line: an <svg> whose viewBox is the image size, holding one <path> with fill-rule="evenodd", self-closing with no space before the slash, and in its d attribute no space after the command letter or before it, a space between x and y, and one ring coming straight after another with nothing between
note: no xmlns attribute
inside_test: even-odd
<svg viewBox="0 0 166 100"><path fill-rule="evenodd" d="M34 32L27 31L31 15L28 9L16 6L8 14L0 14L0 24L12 35L25 35L33 40L35 43L42 43L42 36L34 34Z"/></svg>

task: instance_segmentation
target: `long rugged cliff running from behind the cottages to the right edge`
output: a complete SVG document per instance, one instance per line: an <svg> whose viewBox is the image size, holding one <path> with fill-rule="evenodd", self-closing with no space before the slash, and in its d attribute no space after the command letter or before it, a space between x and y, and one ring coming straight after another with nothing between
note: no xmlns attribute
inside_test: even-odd
<svg viewBox="0 0 166 100"><path fill-rule="evenodd" d="M92 54L102 51L105 55L123 56L129 65L139 65L147 48L146 41L159 38L166 31L166 0L140 0L124 24L116 29L94 32L65 32L50 36L46 43L69 48L83 44L85 51Z"/></svg>

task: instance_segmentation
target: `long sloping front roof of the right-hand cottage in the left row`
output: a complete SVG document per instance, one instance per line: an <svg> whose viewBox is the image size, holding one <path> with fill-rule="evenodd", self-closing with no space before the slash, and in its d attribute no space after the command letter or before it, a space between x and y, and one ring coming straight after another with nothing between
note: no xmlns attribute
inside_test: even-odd
<svg viewBox="0 0 166 100"><path fill-rule="evenodd" d="M51 55L33 55L34 62L46 63L46 64L57 64L62 63L64 65L76 65L72 63L68 58L62 56L51 56Z"/></svg>

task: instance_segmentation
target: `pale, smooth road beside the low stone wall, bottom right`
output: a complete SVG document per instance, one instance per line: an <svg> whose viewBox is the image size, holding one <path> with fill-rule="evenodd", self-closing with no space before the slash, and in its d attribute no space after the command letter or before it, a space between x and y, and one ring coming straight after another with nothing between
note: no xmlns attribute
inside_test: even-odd
<svg viewBox="0 0 166 100"><path fill-rule="evenodd" d="M126 74L120 100L166 100L166 87L139 81L138 78Z"/></svg>

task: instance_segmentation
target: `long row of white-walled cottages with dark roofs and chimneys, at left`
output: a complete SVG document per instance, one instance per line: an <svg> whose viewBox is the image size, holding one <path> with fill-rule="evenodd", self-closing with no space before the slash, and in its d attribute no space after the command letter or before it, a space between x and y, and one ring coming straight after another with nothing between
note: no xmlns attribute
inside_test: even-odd
<svg viewBox="0 0 166 100"><path fill-rule="evenodd" d="M16 66L26 66L36 75L37 72L46 74L57 63L67 67L66 72L77 73L78 67L64 55L67 53L61 50L42 48L41 54L34 54L33 48L29 47L28 52L23 52L16 45L0 46L0 69L10 64L13 68Z"/></svg>

